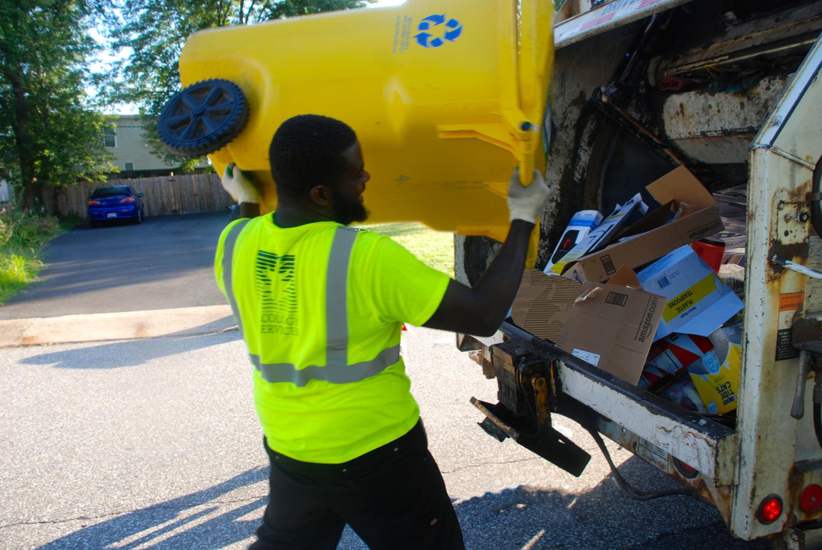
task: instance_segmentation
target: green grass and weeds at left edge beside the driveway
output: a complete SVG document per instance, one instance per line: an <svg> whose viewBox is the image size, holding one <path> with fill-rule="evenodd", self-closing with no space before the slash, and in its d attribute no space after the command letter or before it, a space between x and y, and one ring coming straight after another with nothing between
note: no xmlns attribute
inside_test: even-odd
<svg viewBox="0 0 822 550"><path fill-rule="evenodd" d="M35 280L44 265L40 251L71 227L53 216L0 211L0 305Z"/></svg>

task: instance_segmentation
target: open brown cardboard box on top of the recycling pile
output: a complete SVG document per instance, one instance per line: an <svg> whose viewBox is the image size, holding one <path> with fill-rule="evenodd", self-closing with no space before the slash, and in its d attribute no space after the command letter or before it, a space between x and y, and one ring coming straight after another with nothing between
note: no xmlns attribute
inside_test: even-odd
<svg viewBox="0 0 822 550"><path fill-rule="evenodd" d="M686 167L668 172L645 189L663 206L617 236L633 238L582 256L566 271L566 277L580 282L607 281L621 265L640 268L671 250L723 230L713 195ZM672 210L681 207L693 211L666 223Z"/></svg>

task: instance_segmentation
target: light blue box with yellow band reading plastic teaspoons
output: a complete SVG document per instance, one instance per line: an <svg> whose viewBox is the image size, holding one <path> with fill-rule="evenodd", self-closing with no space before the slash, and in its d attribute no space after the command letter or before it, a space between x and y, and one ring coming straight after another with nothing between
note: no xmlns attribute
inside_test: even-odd
<svg viewBox="0 0 822 550"><path fill-rule="evenodd" d="M690 246L666 254L637 274L644 290L665 296L654 340L672 332L709 336L744 304Z"/></svg>

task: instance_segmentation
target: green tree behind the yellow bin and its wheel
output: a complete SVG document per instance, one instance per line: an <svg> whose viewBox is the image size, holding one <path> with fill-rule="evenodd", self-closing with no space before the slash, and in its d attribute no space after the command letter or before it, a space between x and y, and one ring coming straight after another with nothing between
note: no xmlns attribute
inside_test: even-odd
<svg viewBox="0 0 822 550"><path fill-rule="evenodd" d="M119 23L110 37L127 57L111 75L110 97L136 103L145 137L167 163L193 167L201 159L169 154L156 137L155 121L166 101L180 89L178 60L186 39L198 30L251 25L281 17L363 7L376 0L121 0Z"/></svg>

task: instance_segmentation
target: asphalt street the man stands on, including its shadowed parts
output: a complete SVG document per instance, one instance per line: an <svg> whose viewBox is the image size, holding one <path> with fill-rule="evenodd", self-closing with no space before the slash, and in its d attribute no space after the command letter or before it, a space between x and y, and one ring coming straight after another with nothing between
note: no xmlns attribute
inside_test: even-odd
<svg viewBox="0 0 822 550"><path fill-rule="evenodd" d="M149 226L146 226L149 227ZM769 548L686 497L633 502L593 441L580 479L487 436L496 383L444 332L404 336L413 393L468 548ZM266 505L252 367L237 332L0 351L0 548L246 548ZM644 489L672 482L609 444ZM347 531L339 548L364 548Z"/></svg>

